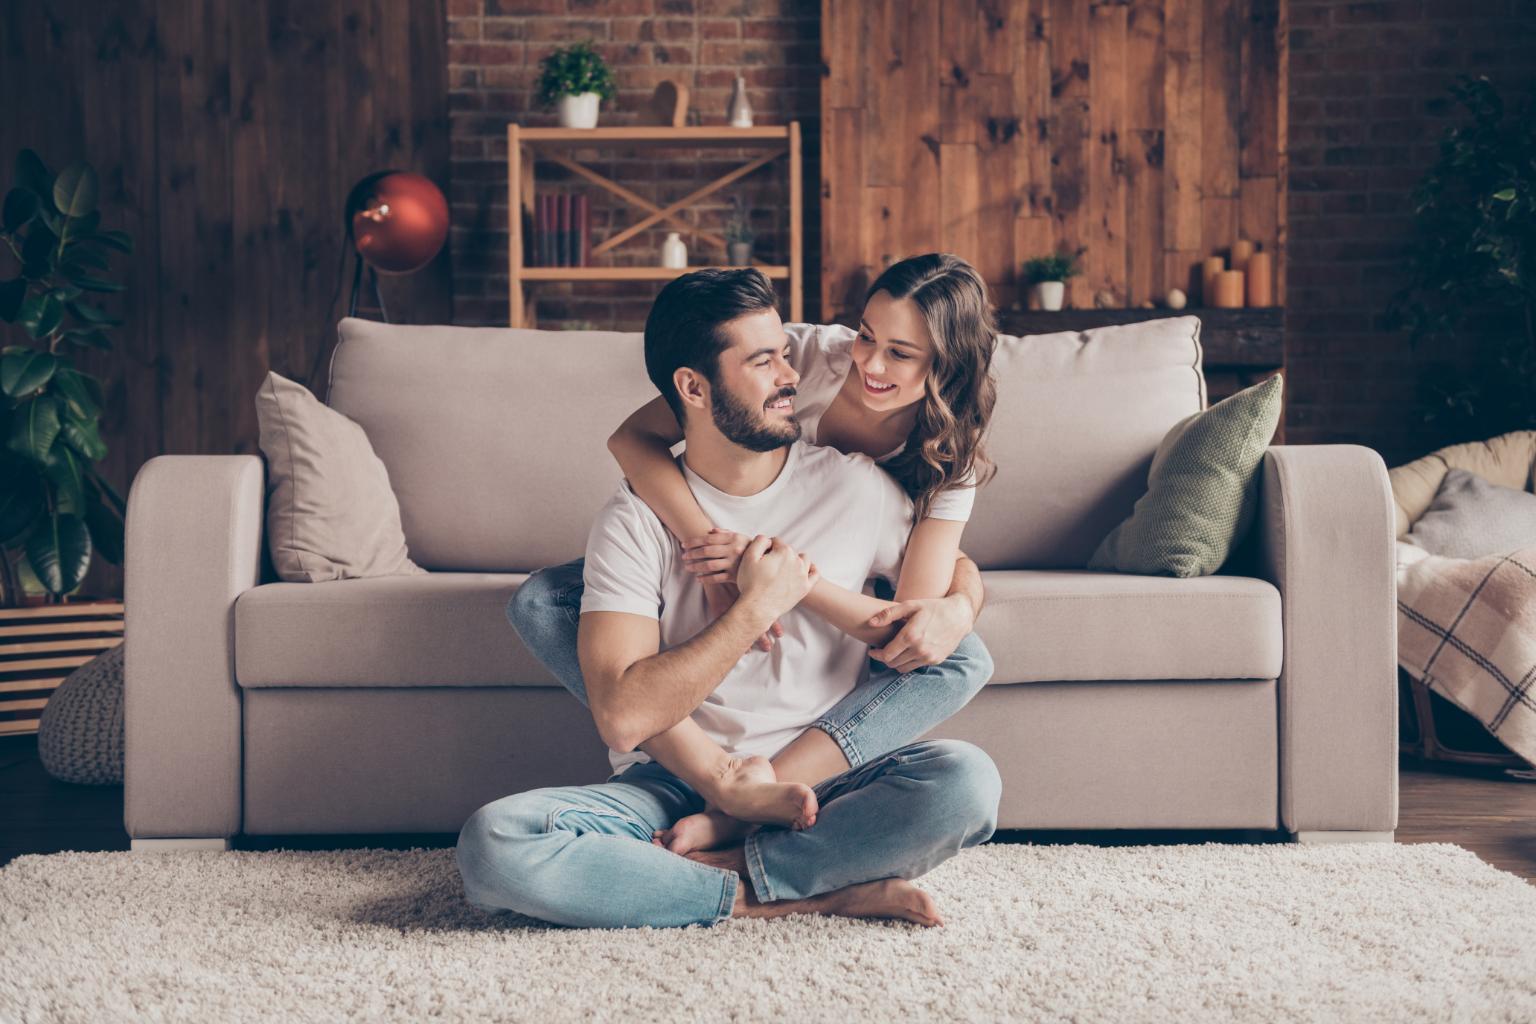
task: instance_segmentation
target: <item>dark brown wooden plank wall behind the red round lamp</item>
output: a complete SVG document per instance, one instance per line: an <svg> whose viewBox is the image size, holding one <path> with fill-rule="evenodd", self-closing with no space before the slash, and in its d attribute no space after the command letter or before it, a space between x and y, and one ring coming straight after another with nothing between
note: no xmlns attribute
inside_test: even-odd
<svg viewBox="0 0 1536 1024"><path fill-rule="evenodd" d="M358 178L402 167L447 192L444 2L0 5L6 184L22 147L89 160L103 226L135 243L114 258L114 350L81 361L106 387L114 487L161 453L258 451L263 376L310 382L335 341ZM450 279L447 250L384 278L392 319L449 322ZM120 571L97 559L84 590L120 594Z"/></svg>

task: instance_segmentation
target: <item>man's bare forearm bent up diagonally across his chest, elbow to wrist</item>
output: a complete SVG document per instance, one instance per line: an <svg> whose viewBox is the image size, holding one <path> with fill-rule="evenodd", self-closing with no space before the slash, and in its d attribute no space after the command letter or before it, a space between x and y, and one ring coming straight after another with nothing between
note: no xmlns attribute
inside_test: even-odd
<svg viewBox="0 0 1536 1024"><path fill-rule="evenodd" d="M737 600L693 639L625 669L608 709L624 752L693 714L773 619L751 602Z"/></svg>

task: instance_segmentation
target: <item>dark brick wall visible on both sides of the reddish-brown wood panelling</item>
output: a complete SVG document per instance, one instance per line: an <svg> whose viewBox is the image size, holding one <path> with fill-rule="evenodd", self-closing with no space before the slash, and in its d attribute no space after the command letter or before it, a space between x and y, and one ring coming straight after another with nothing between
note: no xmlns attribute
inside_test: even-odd
<svg viewBox="0 0 1536 1024"><path fill-rule="evenodd" d="M1425 375L1475 358L1476 338L1410 350L1384 327L1402 284L1410 193L1456 123L1447 86L1487 74L1507 97L1536 83L1531 0L1287 0L1290 20L1290 200L1287 284L1287 439L1358 442L1395 465L1462 436L1419 422ZM723 123L740 71L762 124L799 118L806 147L806 315L817 316L819 0L449 0L453 118L455 321L507 321L505 124L553 124L531 101L539 58L593 38L621 95L604 123L633 124L651 89L680 78L707 123ZM596 164L637 192L679 197L730 166L719 154L651 154ZM707 177L708 175L708 177ZM541 173L541 181L545 180ZM568 187L554 175L548 178ZM687 186L687 187L685 187ZM760 207L759 252L782 252L782 173L736 189ZM607 200L593 200L598 236ZM694 213L716 226L723 206ZM621 212L619 226L633 218ZM662 230L622 250L622 263L659 263ZM702 253L691 253L699 263ZM559 286L539 290L541 324L636 330L654 286Z"/></svg>

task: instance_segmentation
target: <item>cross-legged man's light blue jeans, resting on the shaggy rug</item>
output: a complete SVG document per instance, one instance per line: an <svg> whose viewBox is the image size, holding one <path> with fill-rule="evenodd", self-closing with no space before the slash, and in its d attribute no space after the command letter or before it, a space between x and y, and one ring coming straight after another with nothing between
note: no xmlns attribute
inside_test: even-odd
<svg viewBox="0 0 1536 1024"><path fill-rule="evenodd" d="M817 785L811 827L748 835L746 881L768 903L915 878L991 838L1001 789L978 746L903 746ZM702 809L703 798L654 761L594 786L502 797L459 832L464 895L482 910L574 927L716 924L731 917L740 877L651 843Z"/></svg>

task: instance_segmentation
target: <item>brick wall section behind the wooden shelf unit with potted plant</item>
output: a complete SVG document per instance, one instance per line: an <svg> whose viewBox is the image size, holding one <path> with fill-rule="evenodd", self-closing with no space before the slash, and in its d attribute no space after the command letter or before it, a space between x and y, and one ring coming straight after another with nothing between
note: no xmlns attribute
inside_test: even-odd
<svg viewBox="0 0 1536 1024"><path fill-rule="evenodd" d="M725 124L731 86L746 80L757 124L800 121L806 206L805 296L819 290L817 223L820 112L820 0L449 0L449 111L453 121L453 318L459 324L507 322L507 123L556 124L535 104L539 60L551 49L593 40L619 84L601 124L641 124L664 80L690 89L693 123ZM628 150L581 158L613 181L665 206L713 181L760 150ZM720 230L730 197L750 203L756 250L788 263L790 190L785 161L710 197L688 223ZM636 207L541 164L539 187L587 192L593 238L639 220ZM665 224L613 250L619 266L656 266ZM690 241L684 235L684 241ZM690 244L690 263L725 263L723 253ZM541 284L541 327L593 325L639 330L659 286L650 282ZM786 309L786 307L785 307Z"/></svg>

